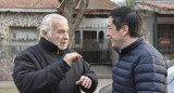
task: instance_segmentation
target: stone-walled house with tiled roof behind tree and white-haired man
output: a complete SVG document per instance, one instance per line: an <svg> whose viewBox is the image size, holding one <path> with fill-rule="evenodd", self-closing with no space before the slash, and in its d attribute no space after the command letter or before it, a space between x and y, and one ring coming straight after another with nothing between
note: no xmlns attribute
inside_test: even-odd
<svg viewBox="0 0 174 93"><path fill-rule="evenodd" d="M14 57L39 41L41 19L49 13L57 13L59 2L58 0L0 0L0 81L7 81L12 80ZM89 0L89 6L74 35L73 48L90 64L112 64L112 52L110 52L112 49L108 46L105 30L108 13L115 6L109 0Z"/></svg>

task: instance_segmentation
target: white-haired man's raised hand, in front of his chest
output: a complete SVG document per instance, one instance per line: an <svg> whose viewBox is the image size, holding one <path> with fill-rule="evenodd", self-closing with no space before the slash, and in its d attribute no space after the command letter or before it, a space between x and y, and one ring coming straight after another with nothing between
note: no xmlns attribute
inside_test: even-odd
<svg viewBox="0 0 174 93"><path fill-rule="evenodd" d="M78 62L82 58L82 55L78 53L67 53L64 56L64 61L71 66L73 63Z"/></svg>

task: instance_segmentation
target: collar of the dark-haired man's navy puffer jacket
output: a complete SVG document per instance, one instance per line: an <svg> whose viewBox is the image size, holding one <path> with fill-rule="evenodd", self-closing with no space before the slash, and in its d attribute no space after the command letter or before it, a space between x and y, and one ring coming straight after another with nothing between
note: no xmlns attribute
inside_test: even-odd
<svg viewBox="0 0 174 93"><path fill-rule="evenodd" d="M137 45L139 45L140 43L144 42L144 38L139 38L136 41L134 41L133 43L130 43L129 45L123 48L123 49L114 49L119 54L124 54L127 53L127 51L136 48Z"/></svg>

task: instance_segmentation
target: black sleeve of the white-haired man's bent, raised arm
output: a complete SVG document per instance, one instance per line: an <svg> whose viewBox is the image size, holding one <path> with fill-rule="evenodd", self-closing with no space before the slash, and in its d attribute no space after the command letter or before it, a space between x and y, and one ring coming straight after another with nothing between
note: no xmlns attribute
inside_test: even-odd
<svg viewBox="0 0 174 93"><path fill-rule="evenodd" d="M13 79L21 93L48 93L70 69L62 59L38 70L34 64L35 58L23 54L14 59Z"/></svg>

